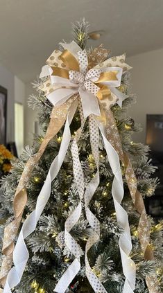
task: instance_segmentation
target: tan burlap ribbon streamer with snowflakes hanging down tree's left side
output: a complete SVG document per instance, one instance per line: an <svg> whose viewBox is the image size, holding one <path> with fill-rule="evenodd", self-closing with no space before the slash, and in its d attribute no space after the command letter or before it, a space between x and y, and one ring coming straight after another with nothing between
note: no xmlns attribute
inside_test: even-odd
<svg viewBox="0 0 163 293"><path fill-rule="evenodd" d="M15 247L14 240L17 236L19 225L22 221L22 215L24 213L24 208L27 202L27 193L25 188L26 183L28 182L28 179L31 177L31 172L33 171L33 168L35 168L36 163L42 157L42 154L44 153L44 150L46 149L46 146L48 145L49 141L53 139L53 136L58 134L62 125L65 123L69 107L76 98L77 95L74 95L71 98L69 98L69 100L67 100L67 102L65 102L64 104L58 107L53 107L53 110L51 112L51 120L46 130L44 140L40 145L40 149L36 154L33 155L33 157L28 159L26 166L24 167L24 171L22 172L22 176L19 180L19 184L17 186L13 202L15 220L8 224L8 226L6 226L4 230L2 253L5 255L5 258L3 258L0 273L0 282L3 286L6 283L6 277L12 266L12 252Z"/></svg>

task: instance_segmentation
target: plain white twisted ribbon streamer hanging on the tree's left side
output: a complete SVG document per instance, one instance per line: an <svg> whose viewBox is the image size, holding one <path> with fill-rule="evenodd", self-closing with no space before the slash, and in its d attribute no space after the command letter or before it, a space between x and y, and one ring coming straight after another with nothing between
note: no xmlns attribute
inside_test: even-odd
<svg viewBox="0 0 163 293"><path fill-rule="evenodd" d="M8 273L3 293L11 293L10 289L18 285L21 281L29 257L28 249L26 248L24 240L31 233L33 233L33 231L35 231L40 215L42 214L44 206L48 202L51 195L51 181L53 181L53 179L55 179L55 177L58 175L60 167L62 166L62 162L65 159L67 148L69 147L69 143L71 140L69 125L72 118L74 117L74 113L76 112L76 102L77 101L74 101L74 104L70 108L69 114L67 116L67 121L65 123L65 130L62 136L60 150L57 157L55 157L55 159L51 163L48 175L46 177L46 180L44 181L44 185L42 186L40 195L37 198L36 208L30 215L28 215L19 233L17 244L15 245L15 249L13 251L13 263L15 266L12 267L12 269L10 269L10 272Z"/></svg>

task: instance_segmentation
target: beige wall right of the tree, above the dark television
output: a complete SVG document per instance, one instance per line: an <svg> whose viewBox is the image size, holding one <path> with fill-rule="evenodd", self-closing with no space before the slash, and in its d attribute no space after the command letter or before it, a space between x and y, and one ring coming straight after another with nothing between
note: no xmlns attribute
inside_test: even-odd
<svg viewBox="0 0 163 293"><path fill-rule="evenodd" d="M163 48L128 57L127 63L133 67L132 91L137 94L137 104L129 114L143 127L143 132L133 137L144 143L146 114L163 114Z"/></svg>

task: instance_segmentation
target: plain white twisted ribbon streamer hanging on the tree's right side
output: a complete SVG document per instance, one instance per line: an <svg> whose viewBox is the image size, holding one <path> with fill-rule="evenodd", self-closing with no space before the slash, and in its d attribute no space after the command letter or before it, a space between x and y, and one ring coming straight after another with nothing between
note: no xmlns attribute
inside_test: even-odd
<svg viewBox="0 0 163 293"><path fill-rule="evenodd" d="M119 238L121 263L123 267L123 274L126 277L123 287L123 293L133 293L135 290L136 266L133 260L131 260L131 258L129 257L130 251L132 249L132 242L130 236L128 214L121 206L124 191L119 156L110 144L110 142L108 141L108 139L106 139L104 125L100 124L98 121L97 124L103 136L103 143L105 145L105 150L107 152L108 161L114 174L114 180L112 182L112 197L114 200L117 222L121 225L124 231Z"/></svg>

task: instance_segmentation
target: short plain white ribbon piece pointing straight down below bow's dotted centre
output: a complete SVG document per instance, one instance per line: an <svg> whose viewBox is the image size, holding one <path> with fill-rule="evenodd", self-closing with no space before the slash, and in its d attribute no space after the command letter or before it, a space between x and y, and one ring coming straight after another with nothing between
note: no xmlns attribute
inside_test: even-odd
<svg viewBox="0 0 163 293"><path fill-rule="evenodd" d="M98 105L98 100L94 94L90 93L79 87L78 92L80 94L80 99L83 107L84 117L94 114L96 116L101 116L100 108Z"/></svg>

